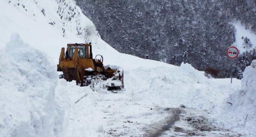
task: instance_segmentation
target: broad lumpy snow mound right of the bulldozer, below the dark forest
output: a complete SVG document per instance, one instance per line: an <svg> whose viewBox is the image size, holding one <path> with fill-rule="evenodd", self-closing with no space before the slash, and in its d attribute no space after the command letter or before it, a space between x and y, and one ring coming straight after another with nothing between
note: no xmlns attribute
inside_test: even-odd
<svg viewBox="0 0 256 137"><path fill-rule="evenodd" d="M125 69L126 70L126 69ZM202 71L197 71L190 64L182 63L180 67L169 65L149 69L125 71L126 91L139 94L139 98L149 97L161 107L198 108L219 111L222 101L239 88L230 87L229 79L208 79Z"/></svg>

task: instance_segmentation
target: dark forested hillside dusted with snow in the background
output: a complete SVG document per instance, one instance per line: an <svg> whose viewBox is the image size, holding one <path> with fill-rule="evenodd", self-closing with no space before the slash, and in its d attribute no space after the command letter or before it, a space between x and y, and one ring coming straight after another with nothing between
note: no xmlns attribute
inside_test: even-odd
<svg viewBox="0 0 256 137"><path fill-rule="evenodd" d="M229 77L231 60L226 48L236 38L234 22L256 32L254 0L76 0L94 22L101 38L119 52L169 64L188 62L198 70L215 69L216 77ZM248 50L247 50L248 51ZM255 49L235 60L234 75L241 78Z"/></svg>

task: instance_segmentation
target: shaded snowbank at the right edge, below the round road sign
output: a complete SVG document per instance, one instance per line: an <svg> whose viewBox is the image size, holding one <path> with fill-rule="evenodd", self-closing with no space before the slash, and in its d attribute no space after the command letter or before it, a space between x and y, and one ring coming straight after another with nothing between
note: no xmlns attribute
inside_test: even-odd
<svg viewBox="0 0 256 137"><path fill-rule="evenodd" d="M243 73L242 89L230 95L226 102L232 105L224 107L223 124L246 135L256 135L256 60Z"/></svg>

